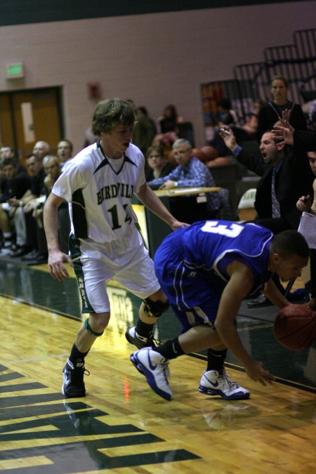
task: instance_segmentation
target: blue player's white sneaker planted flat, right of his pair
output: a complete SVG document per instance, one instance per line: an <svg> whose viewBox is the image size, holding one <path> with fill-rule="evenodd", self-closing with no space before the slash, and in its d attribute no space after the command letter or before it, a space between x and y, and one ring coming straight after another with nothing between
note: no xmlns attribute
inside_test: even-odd
<svg viewBox="0 0 316 474"><path fill-rule="evenodd" d="M246 388L230 381L225 370L223 375L216 370L205 371L199 382L199 392L206 395L220 395L225 400L246 400L250 397L250 392Z"/></svg>

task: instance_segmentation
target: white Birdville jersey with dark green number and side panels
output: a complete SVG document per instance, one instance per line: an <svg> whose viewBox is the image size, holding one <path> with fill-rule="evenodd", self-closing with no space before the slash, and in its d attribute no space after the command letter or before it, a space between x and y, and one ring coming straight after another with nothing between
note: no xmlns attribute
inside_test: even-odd
<svg viewBox="0 0 316 474"><path fill-rule="evenodd" d="M84 148L65 165L53 194L71 203L72 232L81 239L111 242L137 221L133 194L145 183L145 159L133 144L114 171L100 143Z"/></svg>

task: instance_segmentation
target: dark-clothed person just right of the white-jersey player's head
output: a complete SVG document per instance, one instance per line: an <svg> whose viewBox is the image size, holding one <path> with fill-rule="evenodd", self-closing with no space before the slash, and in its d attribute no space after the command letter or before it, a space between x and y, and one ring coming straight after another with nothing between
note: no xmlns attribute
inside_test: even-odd
<svg viewBox="0 0 316 474"><path fill-rule="evenodd" d="M145 155L157 133L154 121L148 116L146 107L136 108L136 122L133 128L133 143Z"/></svg>

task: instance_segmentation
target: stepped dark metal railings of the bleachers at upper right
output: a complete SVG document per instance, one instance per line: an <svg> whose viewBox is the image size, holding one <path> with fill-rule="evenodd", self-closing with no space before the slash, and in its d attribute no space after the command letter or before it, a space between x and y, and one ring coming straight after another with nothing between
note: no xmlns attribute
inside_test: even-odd
<svg viewBox="0 0 316 474"><path fill-rule="evenodd" d="M316 29L294 32L294 44L273 46L263 51L263 62L236 65L234 79L202 84L202 98L209 112L212 93L220 91L229 98L240 119L252 112L254 100L271 99L270 83L273 77L283 76L289 83L289 99L303 105L316 99ZM220 98L220 97L218 97Z"/></svg>

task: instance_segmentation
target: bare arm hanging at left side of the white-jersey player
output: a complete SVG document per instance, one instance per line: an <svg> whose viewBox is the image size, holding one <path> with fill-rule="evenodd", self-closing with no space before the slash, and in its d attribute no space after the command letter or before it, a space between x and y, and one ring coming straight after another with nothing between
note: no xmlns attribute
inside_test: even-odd
<svg viewBox="0 0 316 474"><path fill-rule="evenodd" d="M54 195L52 192L48 196L44 205L44 230L46 234L48 247L48 267L51 276L62 282L66 277L69 277L67 268L64 263L72 263L72 259L64 254L59 249L58 244L58 207L63 199Z"/></svg>

